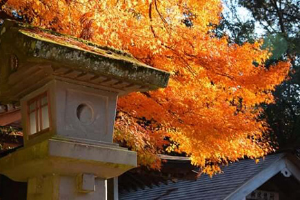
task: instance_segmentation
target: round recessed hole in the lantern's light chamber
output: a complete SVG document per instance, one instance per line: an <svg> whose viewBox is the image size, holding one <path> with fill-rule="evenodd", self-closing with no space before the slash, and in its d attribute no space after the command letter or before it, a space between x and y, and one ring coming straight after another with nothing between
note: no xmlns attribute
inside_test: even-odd
<svg viewBox="0 0 300 200"><path fill-rule="evenodd" d="M77 119L83 124L90 124L94 121L94 110L89 103L81 103L77 106Z"/></svg>

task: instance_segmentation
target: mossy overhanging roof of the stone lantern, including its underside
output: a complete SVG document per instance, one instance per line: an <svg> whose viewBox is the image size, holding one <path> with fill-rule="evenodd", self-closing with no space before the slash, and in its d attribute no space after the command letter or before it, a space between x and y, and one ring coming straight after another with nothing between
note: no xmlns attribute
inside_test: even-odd
<svg viewBox="0 0 300 200"><path fill-rule="evenodd" d="M57 77L119 94L166 88L170 77L121 50L11 20L0 29L0 61L0 101Z"/></svg>

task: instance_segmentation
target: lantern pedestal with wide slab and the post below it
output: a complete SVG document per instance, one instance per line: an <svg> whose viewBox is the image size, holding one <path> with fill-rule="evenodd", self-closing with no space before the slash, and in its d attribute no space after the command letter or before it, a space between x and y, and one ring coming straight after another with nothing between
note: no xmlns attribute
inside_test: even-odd
<svg viewBox="0 0 300 200"><path fill-rule="evenodd" d="M28 200L105 199L106 179L137 166L136 152L48 139L0 159L1 174L28 181Z"/></svg>

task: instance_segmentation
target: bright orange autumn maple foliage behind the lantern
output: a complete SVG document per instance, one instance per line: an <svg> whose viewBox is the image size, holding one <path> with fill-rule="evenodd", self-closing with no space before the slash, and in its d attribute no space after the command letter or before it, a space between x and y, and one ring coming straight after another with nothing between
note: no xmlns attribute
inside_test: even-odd
<svg viewBox="0 0 300 200"><path fill-rule="evenodd" d="M2 9L172 73L164 90L119 99L114 137L139 152L139 163L159 168L166 137L168 151L186 152L208 174L219 171L216 163L272 151L259 104L273 101L289 64L266 69L261 41L237 46L214 37L209 25L219 23L221 1L8 0Z"/></svg>

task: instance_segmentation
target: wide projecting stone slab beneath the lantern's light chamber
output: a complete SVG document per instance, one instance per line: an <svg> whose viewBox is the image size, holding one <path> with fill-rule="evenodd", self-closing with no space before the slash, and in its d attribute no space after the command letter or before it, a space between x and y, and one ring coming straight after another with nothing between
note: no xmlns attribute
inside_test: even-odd
<svg viewBox="0 0 300 200"><path fill-rule="evenodd" d="M83 172L109 179L137 167L137 153L126 148L48 139L0 159L0 173L14 181L43 174L77 176Z"/></svg>

